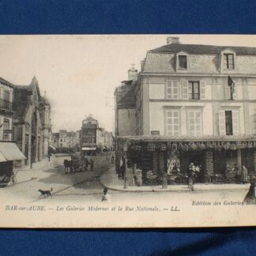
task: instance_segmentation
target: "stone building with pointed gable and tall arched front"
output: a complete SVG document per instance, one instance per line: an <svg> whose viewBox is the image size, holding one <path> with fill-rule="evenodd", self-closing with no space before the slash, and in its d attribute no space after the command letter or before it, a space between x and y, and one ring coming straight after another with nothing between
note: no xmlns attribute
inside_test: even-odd
<svg viewBox="0 0 256 256"><path fill-rule="evenodd" d="M51 137L51 105L41 96L36 77L30 85L16 85L13 93L13 139L26 160L16 164L30 165L48 154Z"/></svg>

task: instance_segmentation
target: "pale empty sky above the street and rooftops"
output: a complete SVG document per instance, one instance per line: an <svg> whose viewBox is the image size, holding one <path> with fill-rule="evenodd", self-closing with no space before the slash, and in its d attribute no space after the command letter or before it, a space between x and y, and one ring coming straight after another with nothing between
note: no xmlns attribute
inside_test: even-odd
<svg viewBox="0 0 256 256"><path fill-rule="evenodd" d="M256 47L256 36L235 35L0 36L0 77L29 85L36 76L51 103L53 132L79 130L90 114L114 131L115 87L132 64L140 71L146 52L168 36L181 43Z"/></svg>

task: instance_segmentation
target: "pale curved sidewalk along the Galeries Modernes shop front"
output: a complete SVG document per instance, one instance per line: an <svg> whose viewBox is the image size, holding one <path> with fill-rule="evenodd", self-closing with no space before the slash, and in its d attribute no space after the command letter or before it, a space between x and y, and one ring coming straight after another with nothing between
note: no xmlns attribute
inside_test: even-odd
<svg viewBox="0 0 256 256"><path fill-rule="evenodd" d="M127 175L131 175L128 173ZM162 186L127 186L124 187L124 181L118 179L115 172L115 166L104 172L100 176L100 183L109 190L126 191L126 192L191 192L186 185L168 185L167 189ZM250 184L194 184L194 192L213 191L213 190L249 190Z"/></svg>

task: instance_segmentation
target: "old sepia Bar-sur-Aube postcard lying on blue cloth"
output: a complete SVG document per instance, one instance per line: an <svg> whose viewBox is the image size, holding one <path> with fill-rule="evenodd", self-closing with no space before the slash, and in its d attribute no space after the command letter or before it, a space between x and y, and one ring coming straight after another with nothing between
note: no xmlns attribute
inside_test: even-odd
<svg viewBox="0 0 256 256"><path fill-rule="evenodd" d="M256 224L256 36L0 36L0 227Z"/></svg>

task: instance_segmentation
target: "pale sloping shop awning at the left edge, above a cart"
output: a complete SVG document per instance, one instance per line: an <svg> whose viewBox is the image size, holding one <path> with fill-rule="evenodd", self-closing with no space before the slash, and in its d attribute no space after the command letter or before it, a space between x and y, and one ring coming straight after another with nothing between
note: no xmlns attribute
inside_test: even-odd
<svg viewBox="0 0 256 256"><path fill-rule="evenodd" d="M0 142L0 153L8 161L26 159L21 150L13 142Z"/></svg>

